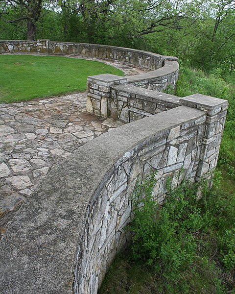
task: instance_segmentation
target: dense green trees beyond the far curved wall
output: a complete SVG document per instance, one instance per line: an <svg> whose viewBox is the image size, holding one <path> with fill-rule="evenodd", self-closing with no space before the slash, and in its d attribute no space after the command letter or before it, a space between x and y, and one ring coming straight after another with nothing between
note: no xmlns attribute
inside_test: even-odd
<svg viewBox="0 0 235 294"><path fill-rule="evenodd" d="M37 38L143 49L231 73L235 1L0 0L0 39Z"/></svg>

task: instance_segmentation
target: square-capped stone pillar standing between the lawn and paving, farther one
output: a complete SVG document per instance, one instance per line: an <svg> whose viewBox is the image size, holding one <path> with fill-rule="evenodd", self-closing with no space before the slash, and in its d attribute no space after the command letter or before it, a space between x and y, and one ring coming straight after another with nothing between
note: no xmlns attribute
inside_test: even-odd
<svg viewBox="0 0 235 294"><path fill-rule="evenodd" d="M127 77L98 74L87 78L87 111L107 118L110 115L111 86L127 83Z"/></svg>

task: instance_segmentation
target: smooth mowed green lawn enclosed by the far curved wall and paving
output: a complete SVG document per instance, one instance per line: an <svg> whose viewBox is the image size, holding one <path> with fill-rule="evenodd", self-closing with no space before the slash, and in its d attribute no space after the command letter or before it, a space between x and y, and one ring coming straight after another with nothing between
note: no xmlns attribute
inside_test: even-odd
<svg viewBox="0 0 235 294"><path fill-rule="evenodd" d="M0 55L0 103L86 91L87 77L123 76L107 64L60 56Z"/></svg>

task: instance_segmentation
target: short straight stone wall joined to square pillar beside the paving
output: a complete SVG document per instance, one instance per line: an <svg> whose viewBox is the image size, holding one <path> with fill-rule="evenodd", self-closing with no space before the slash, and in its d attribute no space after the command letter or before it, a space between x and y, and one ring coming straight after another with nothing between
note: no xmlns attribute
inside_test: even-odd
<svg viewBox="0 0 235 294"><path fill-rule="evenodd" d="M127 84L127 77L112 74L89 76L87 111L125 123L180 105L179 97Z"/></svg>

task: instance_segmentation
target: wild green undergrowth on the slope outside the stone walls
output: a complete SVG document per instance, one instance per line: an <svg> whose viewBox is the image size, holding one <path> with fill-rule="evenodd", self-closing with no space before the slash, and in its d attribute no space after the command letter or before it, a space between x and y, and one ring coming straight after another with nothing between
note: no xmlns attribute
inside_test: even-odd
<svg viewBox="0 0 235 294"><path fill-rule="evenodd" d="M99 294L235 294L235 85L233 73L181 68L173 95L227 99L229 109L211 191L183 181L163 207L152 198L154 174L138 183L131 243L108 271ZM200 183L202 184L202 183ZM205 183L205 187L207 187Z"/></svg>

